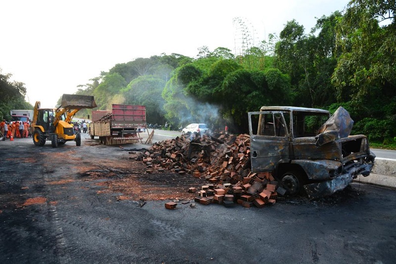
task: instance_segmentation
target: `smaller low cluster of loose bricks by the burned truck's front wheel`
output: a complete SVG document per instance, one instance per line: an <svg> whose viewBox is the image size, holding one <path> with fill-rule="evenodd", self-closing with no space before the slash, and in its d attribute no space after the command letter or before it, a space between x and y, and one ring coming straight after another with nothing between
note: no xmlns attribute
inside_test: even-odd
<svg viewBox="0 0 396 264"><path fill-rule="evenodd" d="M271 173L249 173L242 181L235 184L202 186L195 202L203 205L216 203L229 207L232 204L239 204L247 208L253 205L262 208L276 203L278 190L283 193L284 189L274 180Z"/></svg>

